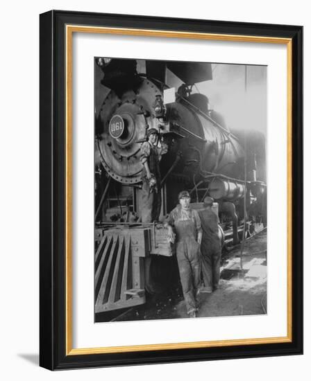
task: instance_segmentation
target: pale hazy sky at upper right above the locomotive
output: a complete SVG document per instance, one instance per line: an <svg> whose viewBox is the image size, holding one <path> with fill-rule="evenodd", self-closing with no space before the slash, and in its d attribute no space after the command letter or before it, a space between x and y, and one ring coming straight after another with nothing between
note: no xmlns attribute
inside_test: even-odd
<svg viewBox="0 0 311 381"><path fill-rule="evenodd" d="M210 109L222 114L230 130L267 132L267 67L212 64L213 79L200 82L193 92L208 96ZM167 82L178 87L182 82L169 73Z"/></svg>

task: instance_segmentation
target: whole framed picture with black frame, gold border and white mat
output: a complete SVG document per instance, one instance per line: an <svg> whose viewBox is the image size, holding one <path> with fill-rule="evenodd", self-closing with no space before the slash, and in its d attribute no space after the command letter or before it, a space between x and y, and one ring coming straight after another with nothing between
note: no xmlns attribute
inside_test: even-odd
<svg viewBox="0 0 311 381"><path fill-rule="evenodd" d="M302 353L302 38L40 15L40 366Z"/></svg>

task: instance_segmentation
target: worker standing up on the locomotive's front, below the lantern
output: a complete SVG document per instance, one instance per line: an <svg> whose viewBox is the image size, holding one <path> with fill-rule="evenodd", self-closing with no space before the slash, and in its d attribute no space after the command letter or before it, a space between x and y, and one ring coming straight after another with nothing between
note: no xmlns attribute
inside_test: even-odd
<svg viewBox="0 0 311 381"><path fill-rule="evenodd" d="M147 131L147 141L140 148L142 169L142 222L158 221L161 210L160 148L158 131Z"/></svg>

